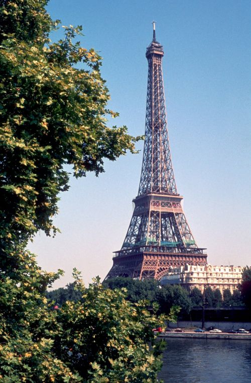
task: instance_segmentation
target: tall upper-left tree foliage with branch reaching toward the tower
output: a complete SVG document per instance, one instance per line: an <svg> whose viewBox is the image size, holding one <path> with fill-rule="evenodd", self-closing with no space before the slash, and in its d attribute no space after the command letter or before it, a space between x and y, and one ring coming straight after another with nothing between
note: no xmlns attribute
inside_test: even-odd
<svg viewBox="0 0 251 383"><path fill-rule="evenodd" d="M103 172L103 160L135 151L126 127L108 127L108 89L101 57L74 42L81 27L57 28L47 0L0 2L1 247L27 241L39 229L57 231L58 193L73 175ZM9 241L7 241L7 239Z"/></svg>

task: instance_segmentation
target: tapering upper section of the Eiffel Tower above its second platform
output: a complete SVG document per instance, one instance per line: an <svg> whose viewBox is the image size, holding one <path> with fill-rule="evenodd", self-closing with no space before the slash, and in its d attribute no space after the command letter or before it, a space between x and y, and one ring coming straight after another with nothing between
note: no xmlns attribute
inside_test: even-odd
<svg viewBox="0 0 251 383"><path fill-rule="evenodd" d="M170 154L162 73L163 47L153 41L147 48L148 85L144 156L139 195L148 192L177 194Z"/></svg>

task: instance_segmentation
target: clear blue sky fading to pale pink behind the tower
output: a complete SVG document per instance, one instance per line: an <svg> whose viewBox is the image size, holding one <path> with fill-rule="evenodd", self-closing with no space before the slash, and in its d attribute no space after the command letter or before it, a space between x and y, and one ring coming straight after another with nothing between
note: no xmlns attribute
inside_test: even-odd
<svg viewBox="0 0 251 383"><path fill-rule="evenodd" d="M186 218L209 263L251 265L250 0L51 0L48 11L63 25L83 26L82 46L103 57L109 107L120 113L116 124L133 135L144 134L145 52L151 22L157 22L174 174ZM71 179L55 218L62 234L41 233L30 245L42 268L65 270L55 287L71 281L73 267L86 283L109 271L131 220L142 155L106 162L98 178Z"/></svg>

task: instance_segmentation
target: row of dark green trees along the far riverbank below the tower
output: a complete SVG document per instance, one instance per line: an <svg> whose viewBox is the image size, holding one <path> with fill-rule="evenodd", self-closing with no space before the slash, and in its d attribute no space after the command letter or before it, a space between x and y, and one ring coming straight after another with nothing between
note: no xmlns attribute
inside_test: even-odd
<svg viewBox="0 0 251 383"><path fill-rule="evenodd" d="M126 297L129 301L136 303L146 300L151 308L153 302L158 303L158 313L168 314L173 305L180 307L179 318L197 320L196 311L203 306L212 311L217 309L234 309L242 307L246 309L244 315L248 315L250 308L250 282L251 268L246 267L243 271L243 280L239 285L239 289L233 293L229 289L223 291L223 296L219 289L212 290L210 286L205 287L204 294L198 288L194 288L190 293L181 285L160 285L155 279L135 280L132 278L112 278L103 282L103 286L109 289L126 288ZM62 305L66 300L76 300L79 298L74 288L74 283L69 283L66 287L49 291L48 299L57 305ZM203 296L204 295L204 296ZM198 313L197 313L198 314ZM222 319L224 316L222 314ZM233 319L232 316L230 316ZM217 319L219 317L217 316ZM243 319L243 318L242 318ZM248 318L245 318L247 321Z"/></svg>

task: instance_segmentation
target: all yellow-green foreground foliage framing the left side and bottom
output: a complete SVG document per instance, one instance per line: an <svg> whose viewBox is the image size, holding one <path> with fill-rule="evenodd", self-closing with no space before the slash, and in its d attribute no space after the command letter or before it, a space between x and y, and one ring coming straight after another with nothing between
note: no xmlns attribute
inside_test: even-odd
<svg viewBox="0 0 251 383"><path fill-rule="evenodd" d="M0 378L10 382L157 381L161 344L151 316L126 292L88 289L53 310L46 288L62 274L43 272L25 250L38 230L56 232L58 193L75 177L103 171L134 138L108 127L100 56L74 43L81 28L56 28L46 0L0 0ZM77 66L81 63L81 69ZM163 318L158 318L161 322Z"/></svg>

